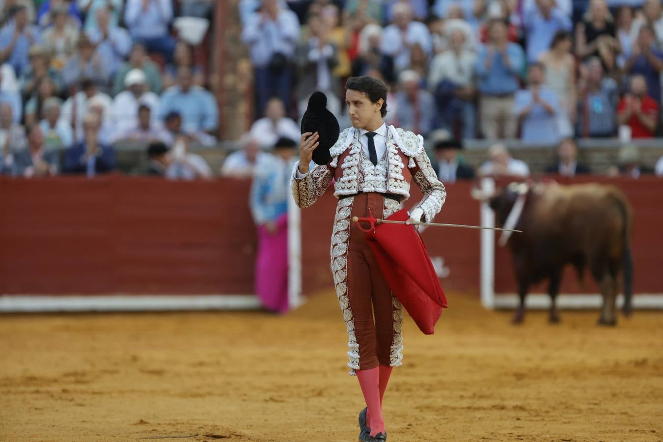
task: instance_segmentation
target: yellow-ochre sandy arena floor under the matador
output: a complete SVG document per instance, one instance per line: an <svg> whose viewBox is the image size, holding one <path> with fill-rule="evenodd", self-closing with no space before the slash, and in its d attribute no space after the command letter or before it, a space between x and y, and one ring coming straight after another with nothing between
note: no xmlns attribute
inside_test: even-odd
<svg viewBox="0 0 663 442"><path fill-rule="evenodd" d="M662 441L663 312L407 320L389 441ZM0 315L0 441L351 442L363 408L335 296L265 313Z"/></svg>

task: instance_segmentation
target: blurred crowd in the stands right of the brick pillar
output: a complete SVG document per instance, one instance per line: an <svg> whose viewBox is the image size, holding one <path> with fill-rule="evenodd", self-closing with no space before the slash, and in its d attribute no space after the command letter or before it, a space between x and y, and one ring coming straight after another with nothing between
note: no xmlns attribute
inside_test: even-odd
<svg viewBox="0 0 663 442"><path fill-rule="evenodd" d="M560 146L561 160L575 158L577 138L619 135L627 152L637 149L630 140L663 134L660 0L240 0L239 12L255 72L251 133L263 144L298 139L316 90L349 126L343 85L360 75L389 85L389 124L494 140L482 174L528 174L499 144L505 138ZM616 170L634 156L620 152ZM573 159L548 170L587 168ZM440 174L457 175L445 166Z"/></svg>

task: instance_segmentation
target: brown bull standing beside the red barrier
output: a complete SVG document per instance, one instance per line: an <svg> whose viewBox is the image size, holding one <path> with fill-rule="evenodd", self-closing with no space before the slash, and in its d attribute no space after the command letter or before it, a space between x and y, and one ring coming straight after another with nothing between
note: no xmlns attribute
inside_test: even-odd
<svg viewBox="0 0 663 442"><path fill-rule="evenodd" d="M619 274L623 273L623 312L629 315L633 213L621 190L599 184L539 184L530 188L512 183L489 200L499 224L505 224L518 197L524 202L522 211L517 217L513 213L510 223L517 219L515 228L522 233L514 233L508 239L520 296L513 322L520 323L524 317L530 286L546 278L550 282L550 321L559 321L555 299L566 264L575 267L579 278L589 268L601 287L600 325L617 323L615 300Z"/></svg>

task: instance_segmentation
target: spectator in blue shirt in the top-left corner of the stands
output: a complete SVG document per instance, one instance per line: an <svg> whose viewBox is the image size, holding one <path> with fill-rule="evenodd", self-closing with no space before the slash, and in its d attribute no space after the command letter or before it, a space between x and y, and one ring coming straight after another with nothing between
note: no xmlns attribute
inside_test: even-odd
<svg viewBox="0 0 663 442"><path fill-rule="evenodd" d="M20 76L30 64L30 46L40 42L39 30L28 22L27 9L18 5L13 20L0 30L0 62L9 62Z"/></svg>

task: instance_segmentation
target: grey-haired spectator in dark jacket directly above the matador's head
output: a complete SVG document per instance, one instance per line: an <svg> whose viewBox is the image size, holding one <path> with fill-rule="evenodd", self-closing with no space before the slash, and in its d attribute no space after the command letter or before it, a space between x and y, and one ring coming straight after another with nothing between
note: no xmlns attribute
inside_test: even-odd
<svg viewBox="0 0 663 442"><path fill-rule="evenodd" d="M357 57L352 62L352 76L367 75L379 70L388 83L394 82L394 58L382 52L382 28L375 23L366 25L359 33Z"/></svg>

